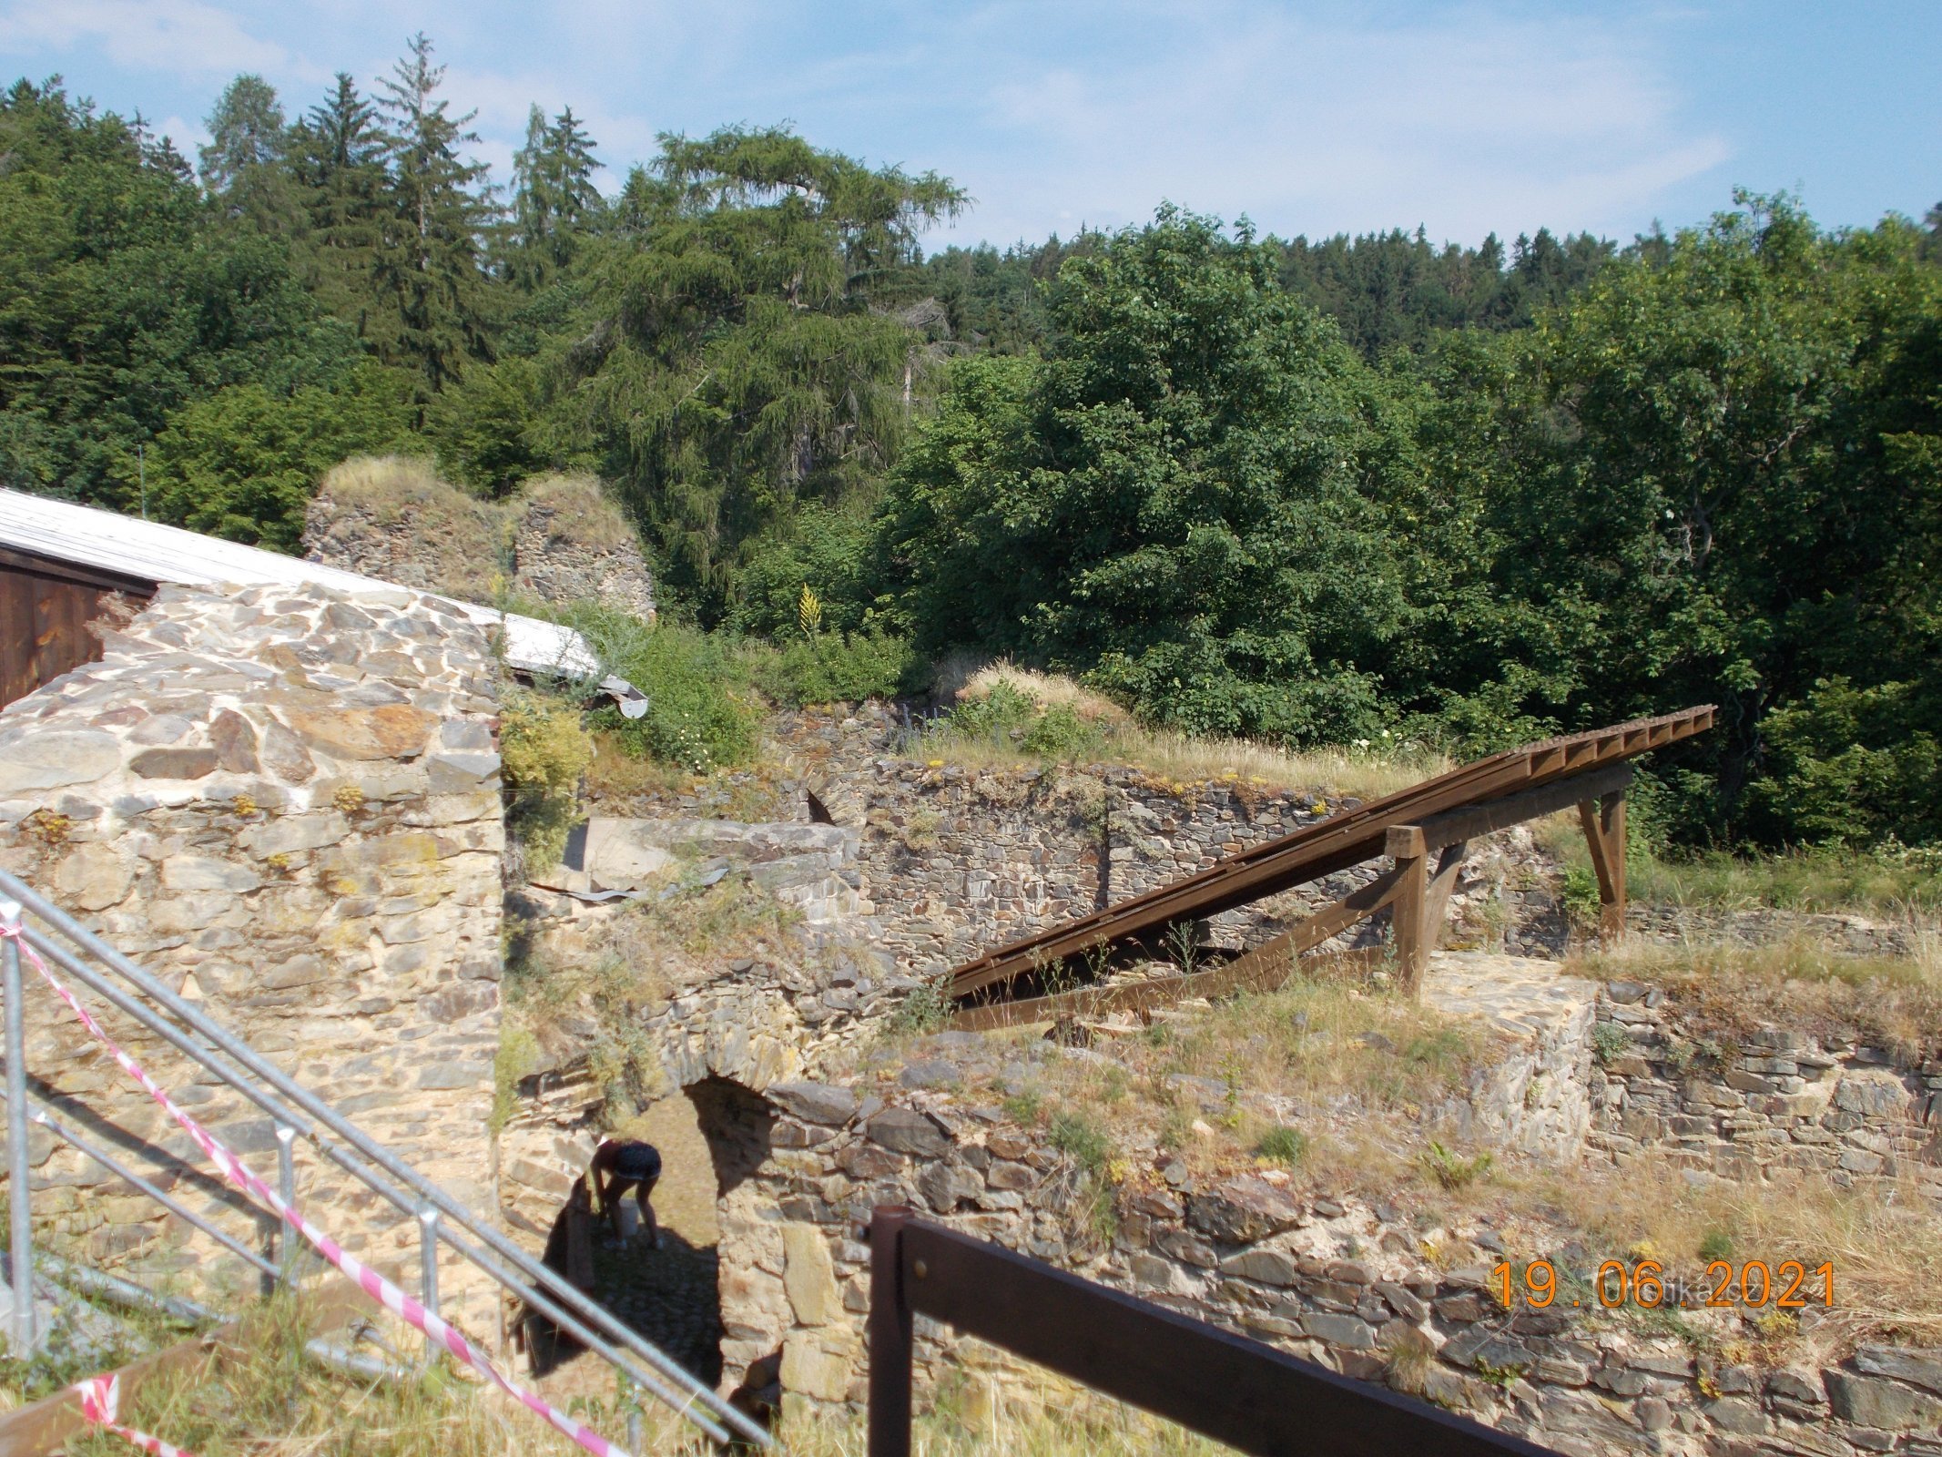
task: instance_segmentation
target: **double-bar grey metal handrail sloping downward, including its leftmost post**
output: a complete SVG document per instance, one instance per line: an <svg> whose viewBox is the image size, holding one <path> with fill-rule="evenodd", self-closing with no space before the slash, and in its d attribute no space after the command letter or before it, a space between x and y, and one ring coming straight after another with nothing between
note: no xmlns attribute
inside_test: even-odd
<svg viewBox="0 0 1942 1457"><path fill-rule="evenodd" d="M140 1022L171 1043L177 1051L214 1072L219 1080L241 1092L249 1101L266 1111L278 1125L309 1140L324 1158L346 1173L361 1181L373 1193L386 1199L398 1210L419 1218L421 1239L443 1241L462 1259L487 1274L495 1284L515 1294L546 1319L559 1325L588 1350L602 1356L619 1375L649 1391L684 1418L699 1426L717 1441L730 1441L724 1428L732 1428L740 1440L759 1447L773 1445L769 1432L719 1397L711 1387L697 1381L672 1356L662 1352L639 1331L621 1323L612 1311L575 1288L557 1271L528 1255L499 1230L462 1203L425 1179L410 1164L400 1160L355 1123L338 1113L315 1092L293 1080L274 1063L260 1057L249 1043L231 1033L200 1008L177 997L161 981L144 971L136 962L122 956L97 934L80 925L74 917L39 896L19 876L0 870L0 898L14 899L33 913L49 929L60 932L80 952L99 962L109 971L126 981L140 997L130 995L87 966L58 940L25 927L25 940L37 952L56 962L91 991L105 997L118 1010ZM8 1032L8 1082L16 1080L16 1053L23 1047L17 995L17 950L4 948L8 991L6 1032ZM167 1016L163 1016L167 1014ZM173 1018L173 1020L171 1020ZM177 1026L179 1024L179 1026ZM23 1076L23 1070L21 1074ZM23 1082L21 1082L23 1090ZM8 1098L8 1129L12 1148L17 1150L14 1166L25 1166L25 1098ZM284 1144L287 1148L287 1140ZM355 1150L355 1152L353 1152ZM19 1185L25 1189L25 1177ZM29 1232L27 1201L12 1203L14 1241L17 1249L27 1247ZM445 1218L425 1218L437 1210ZM460 1230L472 1236L466 1239ZM287 1236L285 1236L287 1237ZM478 1243L474 1243L474 1239ZM429 1292L427 1292L429 1294ZM31 1307L29 1307L31 1319ZM598 1333L596 1333L598 1331ZM705 1410L695 1410L697 1406ZM719 1420L715 1420L719 1418Z"/></svg>

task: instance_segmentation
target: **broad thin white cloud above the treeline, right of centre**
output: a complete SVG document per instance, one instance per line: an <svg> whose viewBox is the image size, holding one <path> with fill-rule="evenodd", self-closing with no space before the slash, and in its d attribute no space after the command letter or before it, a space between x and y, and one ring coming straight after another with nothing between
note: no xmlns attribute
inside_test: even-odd
<svg viewBox="0 0 1942 1457"><path fill-rule="evenodd" d="M1651 35L1594 19L1328 25L1227 6L1148 23L1119 64L988 89L985 155L967 157L990 167L967 179L985 206L955 233L1117 225L1161 198L1284 233L1618 227L1730 155L1682 122Z"/></svg>

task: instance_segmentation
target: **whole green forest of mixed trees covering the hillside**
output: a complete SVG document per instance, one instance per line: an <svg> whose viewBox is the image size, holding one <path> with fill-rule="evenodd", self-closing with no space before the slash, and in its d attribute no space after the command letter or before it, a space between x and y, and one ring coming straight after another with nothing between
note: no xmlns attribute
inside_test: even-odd
<svg viewBox="0 0 1942 1457"><path fill-rule="evenodd" d="M287 552L353 455L592 472L674 616L884 692L969 649L1453 752L1715 701L1655 833L1942 841L1942 212L926 254L961 188L787 128L614 171L534 109L497 186L468 126L423 37L239 76L194 161L16 82L0 486Z"/></svg>

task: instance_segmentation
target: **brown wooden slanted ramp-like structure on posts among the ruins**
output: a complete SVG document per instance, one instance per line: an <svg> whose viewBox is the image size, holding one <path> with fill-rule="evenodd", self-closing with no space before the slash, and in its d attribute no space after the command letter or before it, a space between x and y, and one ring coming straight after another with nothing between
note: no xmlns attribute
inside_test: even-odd
<svg viewBox="0 0 1942 1457"><path fill-rule="evenodd" d="M1713 727L1713 717L1715 709L1707 703L1660 719L1637 719L1491 754L1280 839L1237 851L1144 896L1014 940L950 973L946 995L963 1008L955 1024L1008 1026L1278 985L1299 956L1385 907L1392 907L1396 927L1390 956L1398 962L1400 975L1414 981L1435 946L1468 841L1573 804L1581 806L1598 870L1604 929L1616 936L1624 927L1629 760L1705 732ZM1154 950L1169 927L1192 925L1379 855L1394 861L1387 872L1216 971L1126 987L1088 987L1023 1002L1004 1000L1021 977L1037 973L1039 981L1055 979L1047 977L1049 969L1070 966L1088 952L1130 944Z"/></svg>

